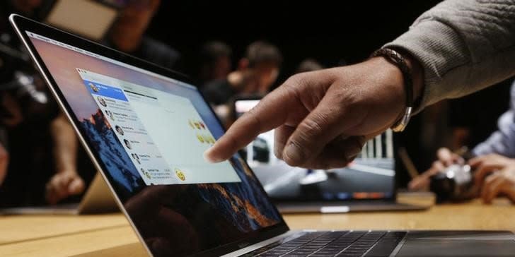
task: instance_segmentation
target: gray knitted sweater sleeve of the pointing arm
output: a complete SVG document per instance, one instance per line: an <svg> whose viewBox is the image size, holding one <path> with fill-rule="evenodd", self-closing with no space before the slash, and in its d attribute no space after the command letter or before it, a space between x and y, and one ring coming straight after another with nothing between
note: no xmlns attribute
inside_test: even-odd
<svg viewBox="0 0 515 257"><path fill-rule="evenodd" d="M515 0L444 1L385 47L422 64L419 109L481 90L515 75Z"/></svg>

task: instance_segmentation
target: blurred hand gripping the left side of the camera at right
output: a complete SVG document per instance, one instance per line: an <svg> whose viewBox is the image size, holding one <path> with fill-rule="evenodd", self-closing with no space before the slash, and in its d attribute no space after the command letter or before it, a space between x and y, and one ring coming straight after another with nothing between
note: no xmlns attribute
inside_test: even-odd
<svg viewBox="0 0 515 257"><path fill-rule="evenodd" d="M465 160L456 153L452 153L448 148L440 148L436 151L436 157L438 160L435 160L431 167L427 169L427 171L419 174L419 176L412 179L409 184L407 184L407 188L413 191L417 190L428 190L429 183L431 182L431 177L438 172L443 171L446 167L451 165L464 165Z"/></svg>

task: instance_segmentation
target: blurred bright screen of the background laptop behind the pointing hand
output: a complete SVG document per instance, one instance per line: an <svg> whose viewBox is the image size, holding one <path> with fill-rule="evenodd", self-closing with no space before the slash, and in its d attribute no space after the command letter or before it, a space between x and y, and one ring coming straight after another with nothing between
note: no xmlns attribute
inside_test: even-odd
<svg viewBox="0 0 515 257"><path fill-rule="evenodd" d="M259 98L242 97L233 104L238 119L260 102ZM395 161L393 134L388 130L367 142L357 158L347 167L331 170L309 170L290 167L275 157L274 131L267 131L250 143L241 155L277 201L375 201L393 199Z"/></svg>

